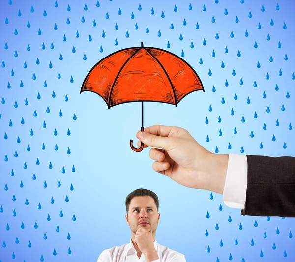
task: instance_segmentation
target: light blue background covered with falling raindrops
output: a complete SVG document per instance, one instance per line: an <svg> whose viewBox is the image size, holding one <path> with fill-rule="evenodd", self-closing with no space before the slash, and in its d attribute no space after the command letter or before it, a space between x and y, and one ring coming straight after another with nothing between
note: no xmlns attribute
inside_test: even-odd
<svg viewBox="0 0 295 262"><path fill-rule="evenodd" d="M183 127L216 153L295 156L294 25L291 0L1 1L0 260L95 262L130 241L124 202L143 187L160 200L157 241L188 262L295 261L294 218L244 217L154 172L149 149L129 147L141 103L108 110L80 95L92 66L119 49L183 51L205 93L177 107L146 102L145 127Z"/></svg>

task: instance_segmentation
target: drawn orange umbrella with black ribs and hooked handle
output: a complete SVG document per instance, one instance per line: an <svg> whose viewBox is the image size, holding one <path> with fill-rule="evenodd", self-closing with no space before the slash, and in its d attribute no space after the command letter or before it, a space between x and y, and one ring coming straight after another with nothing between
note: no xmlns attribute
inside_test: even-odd
<svg viewBox="0 0 295 262"><path fill-rule="evenodd" d="M177 106L187 94L204 90L196 71L182 58L159 48L131 47L119 50L95 64L86 76L80 93L94 92L110 109L113 106L142 102L144 131L144 101ZM131 148L140 152L144 148Z"/></svg>

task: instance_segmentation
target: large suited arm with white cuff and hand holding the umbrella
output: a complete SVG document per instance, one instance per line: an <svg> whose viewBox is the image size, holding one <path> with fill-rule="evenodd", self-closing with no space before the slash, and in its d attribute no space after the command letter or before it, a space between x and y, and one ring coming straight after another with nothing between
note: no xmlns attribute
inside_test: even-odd
<svg viewBox="0 0 295 262"><path fill-rule="evenodd" d="M144 148L163 148L150 149L152 168L177 183L223 194L242 215L295 217L294 157L214 154L180 127L154 125L136 136Z"/></svg>

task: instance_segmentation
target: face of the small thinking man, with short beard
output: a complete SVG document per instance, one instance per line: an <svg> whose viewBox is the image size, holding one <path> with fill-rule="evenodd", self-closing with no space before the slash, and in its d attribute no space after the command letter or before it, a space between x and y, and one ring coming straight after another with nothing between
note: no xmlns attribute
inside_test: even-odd
<svg viewBox="0 0 295 262"><path fill-rule="evenodd" d="M125 217L133 233L141 227L152 230L153 233L157 229L160 213L152 197L134 197L130 201L128 214Z"/></svg>

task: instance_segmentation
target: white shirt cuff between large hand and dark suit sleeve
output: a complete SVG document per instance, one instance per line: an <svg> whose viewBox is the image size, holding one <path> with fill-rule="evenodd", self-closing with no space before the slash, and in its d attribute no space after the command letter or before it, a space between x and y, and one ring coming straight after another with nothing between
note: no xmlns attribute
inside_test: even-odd
<svg viewBox="0 0 295 262"><path fill-rule="evenodd" d="M232 208L245 208L248 163L246 155L229 154L223 202Z"/></svg>

